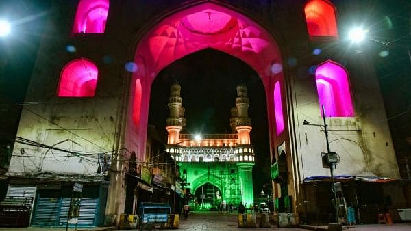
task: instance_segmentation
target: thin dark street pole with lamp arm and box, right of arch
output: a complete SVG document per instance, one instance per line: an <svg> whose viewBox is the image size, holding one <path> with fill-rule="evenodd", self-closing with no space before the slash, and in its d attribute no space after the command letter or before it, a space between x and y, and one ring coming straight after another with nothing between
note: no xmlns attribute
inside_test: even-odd
<svg viewBox="0 0 411 231"><path fill-rule="evenodd" d="M338 220L338 203L337 203L337 195L336 195L336 186L334 185L334 167L336 163L338 163L338 156L335 152L331 152L329 150L329 141L328 141L328 132L327 132L327 122L325 121L325 109L324 105L321 105L321 110L323 112L323 123L324 124L310 124L307 120L303 121L303 125L311 125L311 126L320 126L324 128L325 132L325 141L327 142L327 153L325 153L325 161L329 165L329 172L331 175L331 189L334 197L334 208L335 208L335 213L336 213L336 223L340 228L338 230L342 230L342 226L340 225L340 221Z"/></svg>

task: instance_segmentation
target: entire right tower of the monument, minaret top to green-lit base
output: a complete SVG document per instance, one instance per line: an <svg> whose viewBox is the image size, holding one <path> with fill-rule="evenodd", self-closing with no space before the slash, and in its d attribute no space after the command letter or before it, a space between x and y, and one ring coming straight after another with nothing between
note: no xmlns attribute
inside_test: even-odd
<svg viewBox="0 0 411 231"><path fill-rule="evenodd" d="M253 204L253 166L254 151L250 145L251 119L248 117L249 99L247 98L247 87L237 87L236 107L231 109L231 126L238 133L238 176L240 177L241 200L243 204ZM234 122L235 121L235 122Z"/></svg>

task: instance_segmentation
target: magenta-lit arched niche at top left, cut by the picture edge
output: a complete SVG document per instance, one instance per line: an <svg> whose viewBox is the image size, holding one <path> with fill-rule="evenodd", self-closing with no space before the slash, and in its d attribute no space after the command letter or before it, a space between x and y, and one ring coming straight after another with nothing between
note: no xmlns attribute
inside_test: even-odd
<svg viewBox="0 0 411 231"><path fill-rule="evenodd" d="M104 33L108 0L81 0L75 13L73 33Z"/></svg>

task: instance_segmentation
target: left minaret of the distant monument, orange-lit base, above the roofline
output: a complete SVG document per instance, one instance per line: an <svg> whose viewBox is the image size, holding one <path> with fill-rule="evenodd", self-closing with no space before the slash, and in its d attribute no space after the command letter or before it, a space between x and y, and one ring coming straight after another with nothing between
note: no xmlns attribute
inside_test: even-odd
<svg viewBox="0 0 411 231"><path fill-rule="evenodd" d="M184 107L180 91L182 87L178 83L174 83L170 87L169 109L170 116L166 121L166 130L169 133L167 144L177 144L179 139L179 132L186 126L186 119L184 118Z"/></svg>

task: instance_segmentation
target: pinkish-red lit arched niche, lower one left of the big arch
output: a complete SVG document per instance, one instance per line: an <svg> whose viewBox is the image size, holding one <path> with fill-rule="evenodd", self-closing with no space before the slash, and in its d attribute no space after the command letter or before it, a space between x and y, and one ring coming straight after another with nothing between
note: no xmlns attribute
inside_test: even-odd
<svg viewBox="0 0 411 231"><path fill-rule="evenodd" d="M64 66L60 74L59 97L95 96L97 66L87 59L75 59Z"/></svg>

